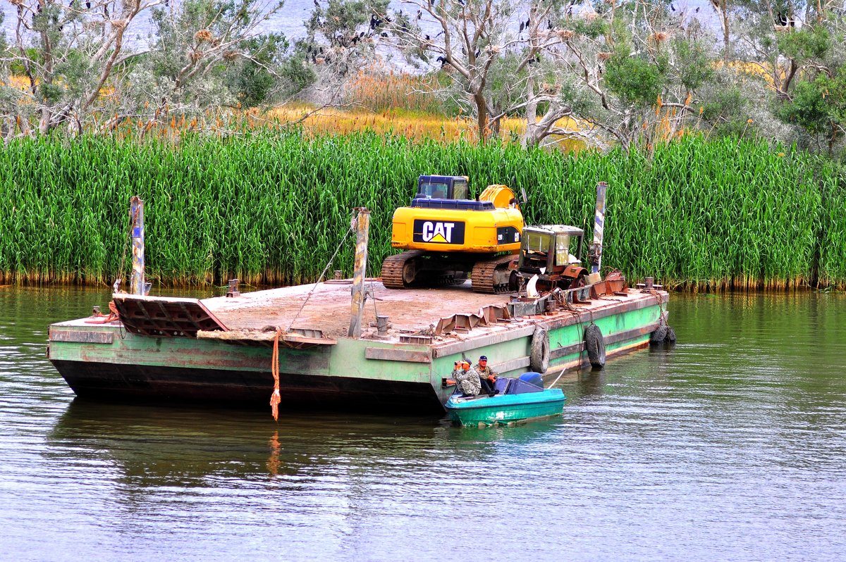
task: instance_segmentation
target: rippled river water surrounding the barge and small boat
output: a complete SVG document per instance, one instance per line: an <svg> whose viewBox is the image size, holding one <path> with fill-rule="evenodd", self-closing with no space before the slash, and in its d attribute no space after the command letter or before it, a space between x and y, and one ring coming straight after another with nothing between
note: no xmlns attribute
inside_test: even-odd
<svg viewBox="0 0 846 562"><path fill-rule="evenodd" d="M513 428L74 400L0 288L3 560L843 560L846 296L673 295L678 345Z"/></svg>

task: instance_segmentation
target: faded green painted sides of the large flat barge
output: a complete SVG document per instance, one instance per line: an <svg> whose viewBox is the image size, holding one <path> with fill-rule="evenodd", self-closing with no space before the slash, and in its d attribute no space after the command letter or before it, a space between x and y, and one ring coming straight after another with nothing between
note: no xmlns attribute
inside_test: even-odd
<svg viewBox="0 0 846 562"><path fill-rule="evenodd" d="M618 314L610 314L596 319L596 325L602 330L607 340L614 340L615 335L623 334L623 339L607 343L607 356L611 357L634 346L645 345L649 333L633 333L645 330L655 325L662 308L666 303L651 303L644 308L629 310ZM550 371L562 368L573 368L587 364L587 354L575 350L563 354L563 348L578 346L583 339L585 324L563 325L565 319L538 318L538 322L547 325L550 336L552 359ZM244 385L263 389L266 387L269 399L272 391L273 379L270 370L272 349L266 346L239 346L215 340L198 340L192 338L159 338L150 336L136 336L116 325L89 325L79 320L59 323L51 326L52 331L78 332L80 334L94 333L97 336L110 335L110 343L91 343L87 341L62 341L51 336L49 358L57 365L60 373L71 384L71 377L76 371L91 370L85 365L97 363L101 371L113 370L114 379L125 379L116 387L119 391L124 386L134 384L134 373L144 373L147 369L169 368L179 370L180 382L186 384L203 385L206 380L205 371L214 369L218 373L231 372L230 385L238 385L243 379ZM339 339L336 345L316 346L305 350L291 349L280 346L279 366L282 394L285 395L286 384L292 389L309 391L309 386L320 387L325 392L343 393L354 381L359 380L362 385L367 383L367 392L378 393L379 385L386 385L391 390L385 390L385 395L378 397L379 401L390 401L397 389L425 387L430 390L432 402L446 403L453 392L453 387L442 387L442 379L453 370L453 362L470 357L474 362L480 355L491 357L494 368L498 368L503 376L516 376L529 368L531 335L516 336L508 339L508 332L503 336L504 341L486 343L474 346L472 338L466 341L463 352L447 352L443 356L438 346L452 345L455 341L436 342L431 346L398 344L387 341ZM500 332L503 333L503 332ZM526 333L523 329L522 333ZM472 336L472 334L471 334ZM71 338L73 339L73 338ZM460 343L460 341L458 341ZM368 350L399 350L417 353L421 359L416 361L389 360L385 358L367 358ZM556 354L558 350L558 355ZM161 370L161 369L160 369ZM74 372L71 372L74 371ZM547 372L548 373L548 372ZM108 373L107 373L108 374ZM158 376L158 375L157 375ZM162 375L163 376L163 375ZM122 379L122 380L123 380ZM295 382L294 382L294 379ZM332 385L333 380L344 379L344 385ZM352 383L350 383L352 381ZM165 384L171 381L165 380ZM74 390L79 389L71 384ZM393 386L392 386L393 384ZM397 386L399 385L399 386ZM410 386L408 386L410 385ZM374 390L376 389L376 390ZM137 390L137 389L136 389ZM143 389L141 389L143 390ZM393 395L391 394L393 393ZM294 396L289 395L289 396Z"/></svg>

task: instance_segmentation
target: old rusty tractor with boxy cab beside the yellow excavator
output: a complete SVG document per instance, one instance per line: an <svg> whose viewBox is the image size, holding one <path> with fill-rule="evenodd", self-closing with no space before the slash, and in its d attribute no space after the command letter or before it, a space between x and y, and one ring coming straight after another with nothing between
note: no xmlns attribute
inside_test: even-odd
<svg viewBox="0 0 846 562"><path fill-rule="evenodd" d="M537 287L551 291L584 285L588 271L578 256L585 232L575 226L525 226L518 272L522 281L538 276Z"/></svg>

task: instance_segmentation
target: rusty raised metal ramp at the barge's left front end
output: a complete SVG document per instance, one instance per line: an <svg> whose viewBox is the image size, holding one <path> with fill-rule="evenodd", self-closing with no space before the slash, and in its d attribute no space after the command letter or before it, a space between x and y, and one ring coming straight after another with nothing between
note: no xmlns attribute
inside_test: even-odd
<svg viewBox="0 0 846 562"><path fill-rule="evenodd" d="M118 317L127 331L139 336L192 337L198 330L228 328L197 298L112 295Z"/></svg>

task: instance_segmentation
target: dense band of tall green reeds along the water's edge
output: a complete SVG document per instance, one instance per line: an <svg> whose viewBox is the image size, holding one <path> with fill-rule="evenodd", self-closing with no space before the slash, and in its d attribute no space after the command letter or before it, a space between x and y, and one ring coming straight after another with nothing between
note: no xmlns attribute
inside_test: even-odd
<svg viewBox="0 0 846 562"><path fill-rule="evenodd" d="M609 183L603 265L695 290L846 286L843 171L804 153L698 137L654 154L568 156L518 146L415 144L376 134L253 132L179 145L104 137L0 150L0 282L111 283L129 270L129 197L146 202L147 274L174 285L312 281L352 208L372 210L370 272L420 174L529 195L531 224L592 230ZM332 269L349 275L354 244Z"/></svg>

